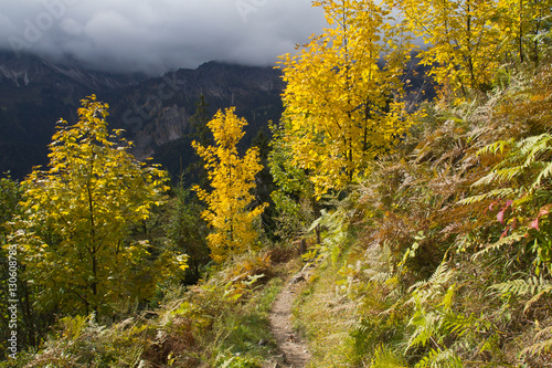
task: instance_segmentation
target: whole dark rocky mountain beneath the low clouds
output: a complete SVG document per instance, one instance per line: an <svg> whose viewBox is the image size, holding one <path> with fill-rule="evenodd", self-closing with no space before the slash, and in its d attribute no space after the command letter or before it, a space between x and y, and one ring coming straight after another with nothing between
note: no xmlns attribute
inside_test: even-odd
<svg viewBox="0 0 552 368"><path fill-rule="evenodd" d="M155 157L173 175L193 161L190 117L204 95L209 115L236 106L250 123L245 147L267 122L282 114L279 72L210 62L161 77L118 75L0 53L0 174L23 178L47 162L55 123L76 120L79 101L96 94L109 104L110 128L124 128L137 158Z"/></svg>

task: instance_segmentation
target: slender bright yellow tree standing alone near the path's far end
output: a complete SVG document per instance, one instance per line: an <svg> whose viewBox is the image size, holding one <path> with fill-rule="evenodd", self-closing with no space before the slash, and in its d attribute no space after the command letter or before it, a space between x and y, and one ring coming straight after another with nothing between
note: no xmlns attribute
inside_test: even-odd
<svg viewBox="0 0 552 368"><path fill-rule="evenodd" d="M258 149L250 148L240 158L236 144L244 136L244 118L235 115L235 107L219 111L208 126L213 133L214 146L192 146L203 159L212 190L193 187L198 197L208 204L203 218L213 231L208 235L211 257L224 262L227 257L255 250L258 238L255 223L266 203L254 207L255 175L263 168Z"/></svg>

